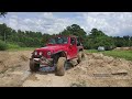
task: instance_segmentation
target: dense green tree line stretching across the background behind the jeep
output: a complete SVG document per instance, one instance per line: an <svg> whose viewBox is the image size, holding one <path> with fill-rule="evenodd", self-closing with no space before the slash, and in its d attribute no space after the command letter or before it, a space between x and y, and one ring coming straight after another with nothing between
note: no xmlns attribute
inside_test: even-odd
<svg viewBox="0 0 132 99"><path fill-rule="evenodd" d="M98 46L105 46L106 50L111 50L114 47L121 46L132 46L132 36L108 36L102 31L98 29L92 29L90 34L87 35L84 29L81 29L77 24L73 24L67 26L58 34L48 34L42 32L33 32L33 31L21 31L13 30L7 24L0 24L0 45L10 47L41 47L44 46L47 40L54 35L76 35L81 37L82 44L85 48L94 50ZM1 47L0 46L0 47Z"/></svg>

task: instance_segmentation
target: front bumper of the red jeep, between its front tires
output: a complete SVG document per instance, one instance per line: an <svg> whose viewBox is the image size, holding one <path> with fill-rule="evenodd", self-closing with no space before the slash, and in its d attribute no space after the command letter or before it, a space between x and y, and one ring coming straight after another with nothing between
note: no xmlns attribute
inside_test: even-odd
<svg viewBox="0 0 132 99"><path fill-rule="evenodd" d="M33 61L35 64L40 64L40 66L53 66L53 58L30 58L30 61Z"/></svg>

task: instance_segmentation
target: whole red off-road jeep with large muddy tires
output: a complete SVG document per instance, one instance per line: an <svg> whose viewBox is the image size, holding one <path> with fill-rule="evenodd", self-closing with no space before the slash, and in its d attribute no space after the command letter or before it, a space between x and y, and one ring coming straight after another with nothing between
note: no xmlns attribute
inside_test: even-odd
<svg viewBox="0 0 132 99"><path fill-rule="evenodd" d="M64 76L66 63L77 58L79 64L84 56L84 47L79 37L59 35L50 38L45 47L36 48L32 53L30 69L36 72L40 67L54 67L57 76Z"/></svg>

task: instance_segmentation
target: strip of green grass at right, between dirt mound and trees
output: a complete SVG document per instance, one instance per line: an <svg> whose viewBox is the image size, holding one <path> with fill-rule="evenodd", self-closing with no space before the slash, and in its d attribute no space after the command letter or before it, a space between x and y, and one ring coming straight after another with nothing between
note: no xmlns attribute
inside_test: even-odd
<svg viewBox="0 0 132 99"><path fill-rule="evenodd" d="M98 52L97 50L86 50L86 53L102 53L107 56L120 57L128 61L132 61L132 51L105 51Z"/></svg>

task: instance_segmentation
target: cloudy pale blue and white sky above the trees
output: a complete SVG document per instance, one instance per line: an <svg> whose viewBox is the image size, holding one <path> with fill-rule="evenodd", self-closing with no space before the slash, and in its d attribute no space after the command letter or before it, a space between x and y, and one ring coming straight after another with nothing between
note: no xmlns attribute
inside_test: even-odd
<svg viewBox="0 0 132 99"><path fill-rule="evenodd" d="M78 24L87 33L97 28L110 36L132 35L132 12L9 12L0 18L1 23L14 30L50 34Z"/></svg>

